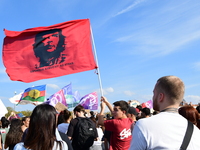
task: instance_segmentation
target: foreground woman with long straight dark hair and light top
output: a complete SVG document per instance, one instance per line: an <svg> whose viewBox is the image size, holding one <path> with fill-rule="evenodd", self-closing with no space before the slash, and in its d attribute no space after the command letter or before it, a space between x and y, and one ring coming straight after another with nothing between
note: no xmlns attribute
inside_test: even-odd
<svg viewBox="0 0 200 150"><path fill-rule="evenodd" d="M48 104L35 107L24 143L18 143L14 150L68 150L67 144L56 135L57 112Z"/></svg>

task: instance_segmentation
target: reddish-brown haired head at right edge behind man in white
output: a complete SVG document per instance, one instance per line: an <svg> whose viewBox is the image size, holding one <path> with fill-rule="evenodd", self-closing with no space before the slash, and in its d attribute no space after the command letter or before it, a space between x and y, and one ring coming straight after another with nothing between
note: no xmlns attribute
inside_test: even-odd
<svg viewBox="0 0 200 150"><path fill-rule="evenodd" d="M180 115L182 115L184 118L192 122L194 125L197 125L200 119L198 111L193 106L190 105L185 105L180 107L178 109L178 112Z"/></svg>

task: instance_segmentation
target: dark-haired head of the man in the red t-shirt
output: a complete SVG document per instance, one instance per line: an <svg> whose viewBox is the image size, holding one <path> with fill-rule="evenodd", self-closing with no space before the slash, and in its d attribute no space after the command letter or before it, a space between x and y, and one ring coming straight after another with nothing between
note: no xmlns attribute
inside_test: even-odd
<svg viewBox="0 0 200 150"><path fill-rule="evenodd" d="M129 105L126 101L116 101L113 103L114 108L113 108L113 117L115 119L120 119L120 118L126 118L127 112Z"/></svg>

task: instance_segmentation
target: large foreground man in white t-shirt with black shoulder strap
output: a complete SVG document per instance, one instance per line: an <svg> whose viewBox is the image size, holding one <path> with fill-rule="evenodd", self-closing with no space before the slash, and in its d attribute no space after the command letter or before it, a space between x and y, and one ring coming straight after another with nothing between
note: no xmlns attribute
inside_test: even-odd
<svg viewBox="0 0 200 150"><path fill-rule="evenodd" d="M140 119L134 126L129 150L179 150L188 121L178 114L184 83L176 76L158 79L153 90L153 109L159 114ZM194 126L188 149L199 150L200 130Z"/></svg>

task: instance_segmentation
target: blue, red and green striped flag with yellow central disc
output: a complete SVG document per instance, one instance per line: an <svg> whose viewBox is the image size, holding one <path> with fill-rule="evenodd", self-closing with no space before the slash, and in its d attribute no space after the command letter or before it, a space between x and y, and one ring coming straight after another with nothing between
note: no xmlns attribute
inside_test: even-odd
<svg viewBox="0 0 200 150"><path fill-rule="evenodd" d="M34 104L38 105L45 101L46 85L34 86L27 88L20 99L19 104Z"/></svg>

